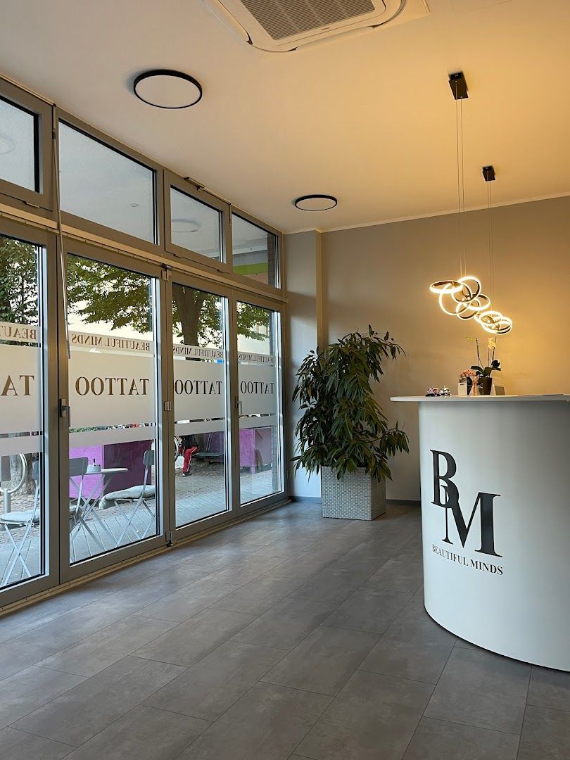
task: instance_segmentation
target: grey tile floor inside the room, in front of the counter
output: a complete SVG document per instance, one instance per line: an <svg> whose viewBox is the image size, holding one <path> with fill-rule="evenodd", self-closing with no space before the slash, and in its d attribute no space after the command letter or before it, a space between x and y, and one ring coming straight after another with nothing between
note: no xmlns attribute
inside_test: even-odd
<svg viewBox="0 0 570 760"><path fill-rule="evenodd" d="M419 534L291 505L0 618L0 758L568 760L570 674L432 622Z"/></svg>

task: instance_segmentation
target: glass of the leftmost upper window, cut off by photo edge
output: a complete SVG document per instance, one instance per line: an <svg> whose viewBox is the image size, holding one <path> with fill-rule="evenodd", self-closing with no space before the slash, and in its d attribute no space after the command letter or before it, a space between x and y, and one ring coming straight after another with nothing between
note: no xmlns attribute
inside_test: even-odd
<svg viewBox="0 0 570 760"><path fill-rule="evenodd" d="M36 122L29 111L0 98L0 179L39 191Z"/></svg>

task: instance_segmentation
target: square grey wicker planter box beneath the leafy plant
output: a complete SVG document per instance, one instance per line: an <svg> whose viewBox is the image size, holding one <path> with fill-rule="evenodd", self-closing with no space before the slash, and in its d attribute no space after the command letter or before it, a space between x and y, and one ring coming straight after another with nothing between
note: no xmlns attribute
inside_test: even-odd
<svg viewBox="0 0 570 760"><path fill-rule="evenodd" d="M386 481L372 480L363 467L341 480L331 467L321 467L322 516L375 520L386 511Z"/></svg>

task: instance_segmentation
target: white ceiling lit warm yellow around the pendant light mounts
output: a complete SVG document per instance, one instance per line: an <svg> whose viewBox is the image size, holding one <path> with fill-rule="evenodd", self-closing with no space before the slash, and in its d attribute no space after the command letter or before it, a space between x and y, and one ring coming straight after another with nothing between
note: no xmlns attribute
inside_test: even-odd
<svg viewBox="0 0 570 760"><path fill-rule="evenodd" d="M2 0L0 71L285 232L453 211L459 70L467 206L486 203L487 163L498 203L570 192L570 2L428 4L418 21L274 54L200 0ZM204 97L141 103L129 88L147 68L187 71ZM318 192L338 206L291 204Z"/></svg>

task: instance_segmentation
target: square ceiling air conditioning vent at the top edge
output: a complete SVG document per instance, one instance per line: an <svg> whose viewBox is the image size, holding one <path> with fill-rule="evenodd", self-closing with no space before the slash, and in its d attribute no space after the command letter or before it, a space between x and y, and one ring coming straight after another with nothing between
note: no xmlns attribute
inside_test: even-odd
<svg viewBox="0 0 570 760"><path fill-rule="evenodd" d="M287 52L340 34L428 14L426 0L202 0L239 38Z"/></svg>

